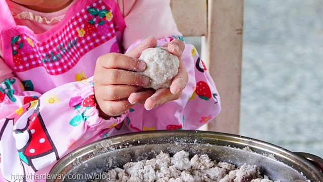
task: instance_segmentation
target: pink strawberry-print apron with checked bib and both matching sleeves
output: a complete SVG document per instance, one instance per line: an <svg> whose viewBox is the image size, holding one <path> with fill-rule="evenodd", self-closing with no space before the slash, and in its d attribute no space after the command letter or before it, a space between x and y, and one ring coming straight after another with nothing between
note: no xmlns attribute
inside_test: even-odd
<svg viewBox="0 0 323 182"><path fill-rule="evenodd" d="M0 7L6 7L5 1ZM2 10L0 15L10 11ZM187 44L181 59L189 80L178 100L149 111L135 104L118 117L99 117L95 62L104 53L121 52L125 28L114 0L79 0L56 28L44 34L15 25L12 17L0 20L5 22L0 25L4 59L16 75L0 83L0 181L45 181L26 177L48 173L69 152L101 138L195 130L221 110L216 86L194 46ZM183 40L160 38L158 46L175 38Z"/></svg>

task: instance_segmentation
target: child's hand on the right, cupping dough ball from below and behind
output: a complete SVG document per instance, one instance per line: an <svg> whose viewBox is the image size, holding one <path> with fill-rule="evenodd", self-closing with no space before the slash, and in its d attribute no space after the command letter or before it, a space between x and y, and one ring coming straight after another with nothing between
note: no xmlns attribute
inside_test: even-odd
<svg viewBox="0 0 323 182"><path fill-rule="evenodd" d="M149 37L148 39L150 39L148 43L156 44L157 42L157 40L153 37ZM167 47L168 50L172 54L178 56L180 60L178 74L173 79L171 88L163 88L156 91L153 89L145 89L145 91L143 92L132 93L130 94L128 99L130 103L144 103L144 107L147 110L150 110L155 106L180 98L182 91L184 90L188 81L188 74L181 60L181 55L184 51L185 44L183 41L175 39L170 43L163 45L163 47Z"/></svg>

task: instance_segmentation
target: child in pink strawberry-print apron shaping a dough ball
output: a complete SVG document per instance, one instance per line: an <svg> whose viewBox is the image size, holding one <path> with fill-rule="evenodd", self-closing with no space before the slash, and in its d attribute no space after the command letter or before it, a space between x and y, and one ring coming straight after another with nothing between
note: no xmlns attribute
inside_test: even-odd
<svg viewBox="0 0 323 182"><path fill-rule="evenodd" d="M182 42L169 3L0 1L2 180L34 181L104 137L197 129L220 112L218 91L196 49ZM156 46L180 58L171 88L157 91L144 89L149 78L137 73L146 67L141 52Z"/></svg>

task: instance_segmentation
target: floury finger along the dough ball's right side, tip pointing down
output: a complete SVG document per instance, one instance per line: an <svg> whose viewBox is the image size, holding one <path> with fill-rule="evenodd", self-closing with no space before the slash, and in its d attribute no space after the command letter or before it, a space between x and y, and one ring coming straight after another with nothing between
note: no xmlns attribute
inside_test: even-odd
<svg viewBox="0 0 323 182"><path fill-rule="evenodd" d="M185 69L185 66L184 66L182 60L180 59L180 66L178 68L178 74L174 77L172 84L171 84L171 88L170 88L171 92L173 94L176 94L176 93L184 90L187 82L188 82L188 74L187 74L187 71Z"/></svg>

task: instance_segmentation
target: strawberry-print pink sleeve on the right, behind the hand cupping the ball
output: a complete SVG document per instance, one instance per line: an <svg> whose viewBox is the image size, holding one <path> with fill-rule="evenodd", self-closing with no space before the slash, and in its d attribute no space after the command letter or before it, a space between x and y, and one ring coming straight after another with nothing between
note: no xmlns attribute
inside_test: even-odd
<svg viewBox="0 0 323 182"><path fill-rule="evenodd" d="M163 38L158 40L158 45L168 43L174 38L182 39L175 36ZM139 42L131 45L128 51ZM132 131L196 130L220 113L219 92L195 47L186 44L181 59L189 76L181 97L149 111L142 104L135 104L127 116L127 124Z"/></svg>

